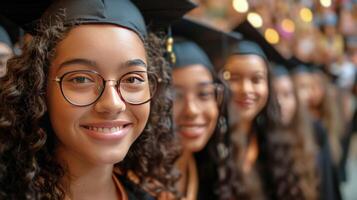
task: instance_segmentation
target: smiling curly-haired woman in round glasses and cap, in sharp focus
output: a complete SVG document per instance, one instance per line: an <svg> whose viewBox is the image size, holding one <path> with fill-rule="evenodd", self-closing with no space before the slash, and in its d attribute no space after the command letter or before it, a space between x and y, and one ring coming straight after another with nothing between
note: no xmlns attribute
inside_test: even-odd
<svg viewBox="0 0 357 200"><path fill-rule="evenodd" d="M9 61L0 199L174 194L168 64L135 2L55 1Z"/></svg>

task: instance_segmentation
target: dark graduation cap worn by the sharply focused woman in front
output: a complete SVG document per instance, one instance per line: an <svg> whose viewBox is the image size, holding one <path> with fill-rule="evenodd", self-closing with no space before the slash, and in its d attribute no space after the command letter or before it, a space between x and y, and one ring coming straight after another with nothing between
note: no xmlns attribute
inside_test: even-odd
<svg viewBox="0 0 357 200"><path fill-rule="evenodd" d="M131 29L144 38L146 24L168 25L196 5L189 0L12 0L0 3L0 13L35 33L38 20L54 20L65 11L65 25L108 23Z"/></svg>

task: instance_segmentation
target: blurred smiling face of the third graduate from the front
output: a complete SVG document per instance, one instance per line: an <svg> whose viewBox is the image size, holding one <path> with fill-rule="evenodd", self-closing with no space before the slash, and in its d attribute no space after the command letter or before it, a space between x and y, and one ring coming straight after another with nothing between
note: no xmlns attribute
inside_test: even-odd
<svg viewBox="0 0 357 200"><path fill-rule="evenodd" d="M268 71L264 60L257 55L233 55L225 70L230 72L229 85L239 118L252 121L268 100Z"/></svg>

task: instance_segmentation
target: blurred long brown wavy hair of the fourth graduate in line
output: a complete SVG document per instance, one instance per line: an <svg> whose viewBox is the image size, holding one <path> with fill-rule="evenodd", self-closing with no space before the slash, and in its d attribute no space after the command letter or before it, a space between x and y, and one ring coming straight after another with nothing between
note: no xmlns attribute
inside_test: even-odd
<svg viewBox="0 0 357 200"><path fill-rule="evenodd" d="M288 74L286 76L289 76ZM307 110L301 105L294 87L297 102L292 121L270 137L274 182L278 199L318 199L319 179L316 166L316 145L313 127Z"/></svg>

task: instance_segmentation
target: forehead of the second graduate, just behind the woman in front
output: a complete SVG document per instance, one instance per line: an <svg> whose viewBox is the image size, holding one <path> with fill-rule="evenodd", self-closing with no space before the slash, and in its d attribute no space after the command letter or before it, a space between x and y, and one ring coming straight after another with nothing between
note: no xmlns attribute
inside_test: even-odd
<svg viewBox="0 0 357 200"><path fill-rule="evenodd" d="M194 86L198 83L213 81L211 72L200 64L175 68L172 72L172 78L174 84L182 86Z"/></svg>

